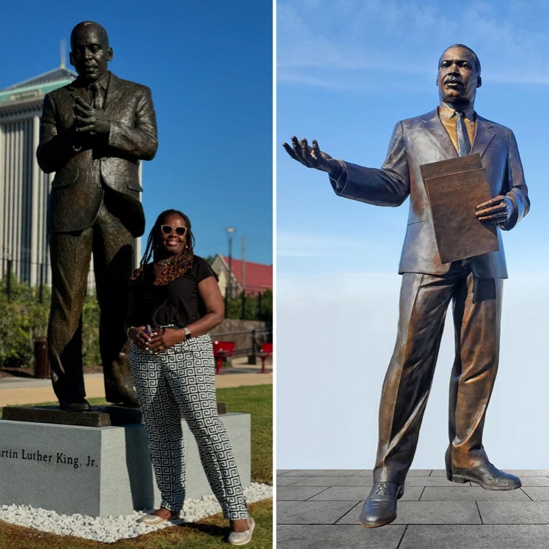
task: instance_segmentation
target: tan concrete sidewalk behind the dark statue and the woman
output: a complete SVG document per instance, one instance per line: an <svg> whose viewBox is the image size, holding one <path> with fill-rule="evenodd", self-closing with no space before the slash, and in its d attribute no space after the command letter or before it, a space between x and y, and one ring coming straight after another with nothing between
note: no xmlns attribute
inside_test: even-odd
<svg viewBox="0 0 549 549"><path fill-rule="evenodd" d="M272 384L272 360L268 360L266 363L267 373L261 373L261 360L258 361L258 365L246 364L246 362L246 357L235 358L232 368L226 368L222 375L215 376L215 387L220 389L244 385ZM102 373L84 375L84 380L88 398L105 397ZM34 379L33 377L0 378L0 407L56 401L56 395L51 388L49 379Z"/></svg>

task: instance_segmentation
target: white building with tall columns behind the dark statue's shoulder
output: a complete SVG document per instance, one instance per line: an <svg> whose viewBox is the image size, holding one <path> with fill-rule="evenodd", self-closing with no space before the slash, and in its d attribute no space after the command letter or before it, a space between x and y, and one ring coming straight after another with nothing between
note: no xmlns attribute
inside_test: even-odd
<svg viewBox="0 0 549 549"><path fill-rule="evenodd" d="M75 78L62 67L0 90L0 276L11 260L30 285L51 282L46 207L54 174L36 161L42 104Z"/></svg>

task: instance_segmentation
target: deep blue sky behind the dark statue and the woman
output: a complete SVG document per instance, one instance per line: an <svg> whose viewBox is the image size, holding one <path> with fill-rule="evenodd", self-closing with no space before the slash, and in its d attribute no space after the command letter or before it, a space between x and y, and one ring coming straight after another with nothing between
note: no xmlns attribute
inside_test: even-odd
<svg viewBox="0 0 549 549"><path fill-rule="evenodd" d="M191 218L196 253L272 263L272 5L224 0L17 0L2 5L0 89L60 66L60 40L101 23L109 69L152 90L159 150L143 163L147 233L167 208ZM67 68L69 65L67 53Z"/></svg>

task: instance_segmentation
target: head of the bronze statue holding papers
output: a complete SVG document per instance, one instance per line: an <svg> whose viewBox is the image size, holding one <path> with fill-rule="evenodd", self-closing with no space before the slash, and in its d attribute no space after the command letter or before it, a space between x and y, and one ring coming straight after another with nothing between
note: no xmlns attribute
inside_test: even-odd
<svg viewBox="0 0 549 549"><path fill-rule="evenodd" d="M472 103L480 84L480 75L471 51L463 47L450 47L442 54L436 85L439 86L439 96L443 102Z"/></svg>

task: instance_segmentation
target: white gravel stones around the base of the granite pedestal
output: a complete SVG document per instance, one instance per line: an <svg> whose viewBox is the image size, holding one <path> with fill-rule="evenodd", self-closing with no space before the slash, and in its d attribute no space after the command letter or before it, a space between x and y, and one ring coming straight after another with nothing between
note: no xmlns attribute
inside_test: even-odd
<svg viewBox="0 0 549 549"><path fill-rule="evenodd" d="M272 498L272 486L268 484L252 484L244 488L246 502L253 503ZM151 511L150 509L148 511ZM221 507L214 495L202 495L198 500L187 500L181 512L181 518L160 524L159 526L145 526L137 522L139 517L146 515L146 511L134 511L124 517L88 517L86 515L58 515L55 511L47 509L34 509L30 505L2 505L0 506L0 520L36 528L43 532L51 532L59 535L71 535L93 539L103 543L113 543L122 538L137 537L139 535L161 530L174 524L195 522L204 517L220 513Z"/></svg>

